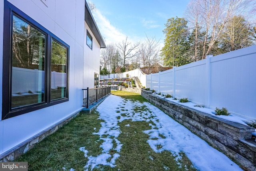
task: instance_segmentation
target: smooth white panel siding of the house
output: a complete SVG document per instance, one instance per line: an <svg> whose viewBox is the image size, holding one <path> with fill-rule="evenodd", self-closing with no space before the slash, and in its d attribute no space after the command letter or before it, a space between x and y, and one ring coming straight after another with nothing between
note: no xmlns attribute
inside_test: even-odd
<svg viewBox="0 0 256 171"><path fill-rule="evenodd" d="M82 109L82 88L94 86L99 74L100 45L84 22L84 0L8 0L70 46L69 101L0 121L0 155L58 121ZM2 58L4 0L0 0L0 103L2 103ZM93 50L86 45L86 29L93 36ZM84 81L83 81L84 80ZM6 84L6 83L3 83ZM2 107L0 107L2 113Z"/></svg>

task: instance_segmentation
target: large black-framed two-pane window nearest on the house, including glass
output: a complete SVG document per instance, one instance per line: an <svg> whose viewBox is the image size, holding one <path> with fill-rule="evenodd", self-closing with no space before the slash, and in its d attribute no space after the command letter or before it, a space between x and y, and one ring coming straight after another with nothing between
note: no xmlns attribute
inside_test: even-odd
<svg viewBox="0 0 256 171"><path fill-rule="evenodd" d="M69 46L4 1L2 119L68 101Z"/></svg>

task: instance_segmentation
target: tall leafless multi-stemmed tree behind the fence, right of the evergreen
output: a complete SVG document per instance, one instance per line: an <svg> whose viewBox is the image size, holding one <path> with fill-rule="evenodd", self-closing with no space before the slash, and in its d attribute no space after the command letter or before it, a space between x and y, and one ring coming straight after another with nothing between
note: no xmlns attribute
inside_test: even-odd
<svg viewBox="0 0 256 171"><path fill-rule="evenodd" d="M242 14L251 0L192 0L186 16L189 22L203 29L202 59L206 58L218 40L229 18ZM197 22L196 22L197 21ZM196 53L196 51L195 51Z"/></svg>

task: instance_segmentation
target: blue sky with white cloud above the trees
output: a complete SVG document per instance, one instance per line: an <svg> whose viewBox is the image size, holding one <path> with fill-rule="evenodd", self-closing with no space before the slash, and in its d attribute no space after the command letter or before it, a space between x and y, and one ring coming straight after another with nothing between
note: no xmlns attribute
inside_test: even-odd
<svg viewBox="0 0 256 171"><path fill-rule="evenodd" d="M89 1L89 0L88 0ZM94 20L105 43L144 41L156 37L164 43L163 30L168 18L183 17L190 0L90 0L96 6Z"/></svg>

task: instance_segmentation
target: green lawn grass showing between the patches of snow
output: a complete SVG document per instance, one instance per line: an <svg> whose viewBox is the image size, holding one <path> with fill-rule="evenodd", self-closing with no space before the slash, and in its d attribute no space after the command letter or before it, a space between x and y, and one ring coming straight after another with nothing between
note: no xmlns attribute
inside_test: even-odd
<svg viewBox="0 0 256 171"><path fill-rule="evenodd" d="M126 91L111 91L111 93L132 101L146 101L137 93ZM140 110L144 110L143 106L137 109L138 112ZM95 129L100 129L100 123L103 122L98 118L97 111L90 114L80 113L16 161L27 161L28 170L31 171L63 171L64 168L68 171L71 168L74 168L75 171L84 171L88 158L84 157L84 152L80 151L80 147L86 146L89 156L97 156L102 153L100 145L103 140L99 135L93 134ZM126 126L127 124L130 126ZM122 148L119 152L120 157L116 159L116 167L100 165L93 171L196 170L184 153L180 153L182 158L177 162L174 160L176 156L173 156L170 151L154 152L147 143L149 135L143 132L143 130L150 129L146 121L123 120L118 125L122 131L118 136ZM110 153L116 153L116 151L110 151Z"/></svg>

